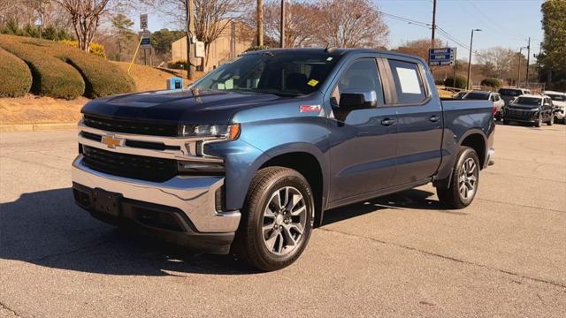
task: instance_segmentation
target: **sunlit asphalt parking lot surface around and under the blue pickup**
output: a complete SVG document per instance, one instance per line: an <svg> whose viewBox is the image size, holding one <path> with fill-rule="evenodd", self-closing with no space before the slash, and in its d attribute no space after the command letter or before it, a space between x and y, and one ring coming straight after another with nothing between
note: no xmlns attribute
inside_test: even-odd
<svg viewBox="0 0 566 318"><path fill-rule="evenodd" d="M566 312L566 125L499 125L476 201L432 186L327 212L293 266L256 273L76 208L76 133L2 133L0 316L509 316ZM562 313L562 314L561 314Z"/></svg>

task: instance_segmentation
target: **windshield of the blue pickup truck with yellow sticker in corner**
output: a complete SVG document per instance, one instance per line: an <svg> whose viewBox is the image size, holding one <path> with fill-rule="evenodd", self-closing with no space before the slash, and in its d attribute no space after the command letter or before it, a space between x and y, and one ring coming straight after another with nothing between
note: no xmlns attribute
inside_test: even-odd
<svg viewBox="0 0 566 318"><path fill-rule="evenodd" d="M250 94L302 96L317 91L339 55L296 51L246 54L223 64L194 88Z"/></svg>

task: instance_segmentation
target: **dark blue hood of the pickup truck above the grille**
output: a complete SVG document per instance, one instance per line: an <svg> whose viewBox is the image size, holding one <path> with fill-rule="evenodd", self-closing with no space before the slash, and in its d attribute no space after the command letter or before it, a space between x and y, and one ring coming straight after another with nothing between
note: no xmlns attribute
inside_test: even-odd
<svg viewBox="0 0 566 318"><path fill-rule="evenodd" d="M271 94L241 94L199 89L116 95L88 102L85 115L135 121L225 124L238 110L288 99Z"/></svg>

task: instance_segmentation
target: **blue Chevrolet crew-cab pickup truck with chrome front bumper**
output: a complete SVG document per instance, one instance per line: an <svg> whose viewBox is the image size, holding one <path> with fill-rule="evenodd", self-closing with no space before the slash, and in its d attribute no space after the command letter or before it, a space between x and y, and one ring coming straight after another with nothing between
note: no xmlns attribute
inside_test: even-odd
<svg viewBox="0 0 566 318"><path fill-rule="evenodd" d="M270 49L187 89L88 102L77 204L209 253L275 270L325 210L432 182L464 208L493 156L493 105L440 100L421 58Z"/></svg>

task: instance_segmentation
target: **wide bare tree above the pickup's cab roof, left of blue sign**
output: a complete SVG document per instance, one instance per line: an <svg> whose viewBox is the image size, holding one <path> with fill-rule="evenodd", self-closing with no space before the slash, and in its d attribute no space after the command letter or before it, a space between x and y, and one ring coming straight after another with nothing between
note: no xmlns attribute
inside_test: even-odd
<svg viewBox="0 0 566 318"><path fill-rule="evenodd" d="M378 48L386 44L388 28L369 0L321 0L317 42L342 48Z"/></svg>

